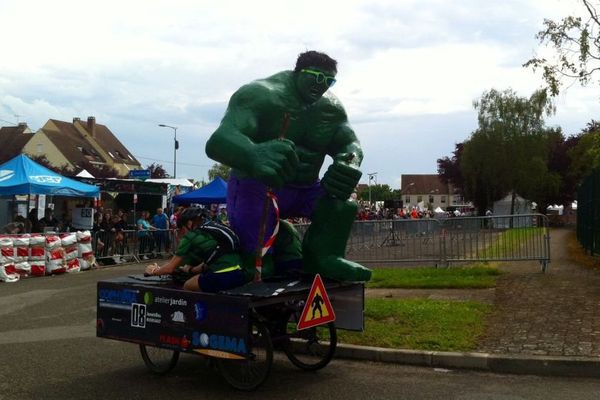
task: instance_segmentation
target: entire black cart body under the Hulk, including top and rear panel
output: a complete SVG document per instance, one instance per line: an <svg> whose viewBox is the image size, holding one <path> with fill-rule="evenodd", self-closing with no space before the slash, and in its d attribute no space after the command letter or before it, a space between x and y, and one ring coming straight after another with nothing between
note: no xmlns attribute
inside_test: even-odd
<svg viewBox="0 0 600 400"><path fill-rule="evenodd" d="M130 275L98 282L97 336L211 357L250 356L253 310L306 300L311 281L248 283L218 294ZM364 328L363 283L326 282L340 329Z"/></svg>

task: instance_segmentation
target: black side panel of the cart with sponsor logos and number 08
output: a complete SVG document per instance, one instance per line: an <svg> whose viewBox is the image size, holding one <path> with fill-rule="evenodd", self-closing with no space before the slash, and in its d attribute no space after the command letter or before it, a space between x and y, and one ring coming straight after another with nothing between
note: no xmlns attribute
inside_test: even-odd
<svg viewBox="0 0 600 400"><path fill-rule="evenodd" d="M133 277L98 282L97 336L222 358L248 355L249 299Z"/></svg>

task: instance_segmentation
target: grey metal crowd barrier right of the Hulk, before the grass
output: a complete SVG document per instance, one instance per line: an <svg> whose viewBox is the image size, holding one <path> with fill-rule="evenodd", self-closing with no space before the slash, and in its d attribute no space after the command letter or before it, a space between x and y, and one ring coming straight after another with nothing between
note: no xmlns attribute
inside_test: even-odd
<svg viewBox="0 0 600 400"><path fill-rule="evenodd" d="M296 228L303 235L308 226ZM537 260L546 271L548 219L525 214L356 221L346 257L371 266Z"/></svg>

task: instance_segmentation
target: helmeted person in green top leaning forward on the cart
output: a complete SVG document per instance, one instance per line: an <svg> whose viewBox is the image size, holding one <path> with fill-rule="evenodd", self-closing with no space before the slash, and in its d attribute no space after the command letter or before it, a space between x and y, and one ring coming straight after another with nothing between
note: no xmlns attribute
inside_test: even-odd
<svg viewBox="0 0 600 400"><path fill-rule="evenodd" d="M239 239L227 226L206 221L200 207L187 208L177 219L181 238L175 255L162 266L146 267L145 275L172 275L183 289L219 292L249 282L254 268L244 270L238 254Z"/></svg>

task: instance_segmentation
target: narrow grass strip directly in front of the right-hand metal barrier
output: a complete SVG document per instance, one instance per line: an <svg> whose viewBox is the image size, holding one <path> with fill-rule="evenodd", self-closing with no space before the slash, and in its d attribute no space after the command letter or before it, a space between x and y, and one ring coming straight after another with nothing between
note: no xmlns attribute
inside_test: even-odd
<svg viewBox="0 0 600 400"><path fill-rule="evenodd" d="M491 288L501 273L483 263L452 268L376 268L367 288Z"/></svg>

